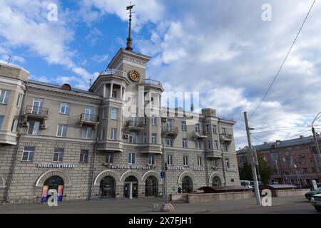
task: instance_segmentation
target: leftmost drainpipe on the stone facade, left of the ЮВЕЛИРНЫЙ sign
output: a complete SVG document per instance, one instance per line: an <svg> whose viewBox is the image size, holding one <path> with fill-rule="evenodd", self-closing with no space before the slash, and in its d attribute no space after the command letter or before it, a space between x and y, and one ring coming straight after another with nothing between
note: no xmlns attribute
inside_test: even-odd
<svg viewBox="0 0 321 228"><path fill-rule="evenodd" d="M28 93L28 86L26 85L26 91L24 93L24 97L22 99L22 102L21 102L21 108L20 108L20 112L19 112L19 118L18 118L18 123L17 123L17 128L16 128L16 131L17 131L17 143L16 143L16 147L14 148L14 158L13 158L13 161L11 163L12 164L12 171L11 171L11 177L9 179L9 183L8 183L8 187L7 187L7 191L6 191L6 196L4 197L4 201L5 202L9 202L9 195L10 195L10 192L11 192L11 184L12 184L12 181L14 180L14 171L16 169L16 160L17 160L17 157L18 157L18 151L19 151L19 146L20 146L20 142L21 142L21 138L22 138L22 135L20 133L20 123L21 123L21 118L22 118L22 112L24 111L24 104L26 103L26 95Z"/></svg>

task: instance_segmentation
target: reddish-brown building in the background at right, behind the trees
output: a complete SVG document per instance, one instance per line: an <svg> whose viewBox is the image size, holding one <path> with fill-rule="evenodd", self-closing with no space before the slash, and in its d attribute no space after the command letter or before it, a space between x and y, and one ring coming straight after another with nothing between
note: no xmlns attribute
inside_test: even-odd
<svg viewBox="0 0 321 228"><path fill-rule="evenodd" d="M317 135L321 142L320 135ZM320 143L319 142L319 143ZM277 140L255 145L256 151L263 155L263 160L274 167L276 172L270 182L288 185L311 185L312 180L321 181L320 158L312 136L296 138L293 140ZM238 150L238 166L250 164L246 150Z"/></svg>

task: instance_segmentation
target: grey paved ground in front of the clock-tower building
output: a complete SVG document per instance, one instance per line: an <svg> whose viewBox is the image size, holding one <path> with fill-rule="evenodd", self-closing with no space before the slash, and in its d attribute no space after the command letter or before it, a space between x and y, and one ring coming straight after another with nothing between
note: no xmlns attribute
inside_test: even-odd
<svg viewBox="0 0 321 228"><path fill-rule="evenodd" d="M132 214L132 213L156 213L153 212L153 204L164 201L161 198L150 199L103 199L91 201L63 202L58 207L49 207L47 204L5 204L0 206L1 213L111 213L111 214ZM280 208L285 210L297 208L302 211L316 212L310 202L300 197L273 197L272 207L261 207L256 205L255 198L225 200L210 203L188 204L183 202L172 202L175 207L173 214L203 214L203 213L282 213ZM277 208L279 208L277 210Z"/></svg>

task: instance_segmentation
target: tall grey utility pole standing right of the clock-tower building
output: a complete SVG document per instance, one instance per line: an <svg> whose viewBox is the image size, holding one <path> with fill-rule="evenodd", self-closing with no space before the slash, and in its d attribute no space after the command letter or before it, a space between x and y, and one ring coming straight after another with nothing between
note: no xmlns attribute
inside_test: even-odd
<svg viewBox="0 0 321 228"><path fill-rule="evenodd" d="M247 112L244 112L244 120L245 120L245 127L246 127L246 135L248 135L248 152L250 153L250 158L251 158L251 167L252 167L252 175L253 175L253 181L254 181L256 204L261 205L260 190L258 188L258 176L256 175L256 168L255 168L255 156L253 153L253 148L252 148L251 138L250 138L250 130L253 130L253 128L249 128L248 126Z"/></svg>

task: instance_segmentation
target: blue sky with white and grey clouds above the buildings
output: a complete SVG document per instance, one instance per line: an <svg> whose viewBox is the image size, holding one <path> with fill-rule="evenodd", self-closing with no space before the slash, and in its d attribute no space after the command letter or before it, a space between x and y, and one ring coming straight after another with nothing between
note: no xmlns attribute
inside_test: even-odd
<svg viewBox="0 0 321 228"><path fill-rule="evenodd" d="M310 135L321 111L321 3L315 2L270 93L253 114L313 0L133 0L133 49L165 91L199 92L201 108L233 119L235 147ZM31 78L88 89L126 47L123 0L0 0L0 62ZM316 124L317 125L317 124ZM316 126L317 132L321 128Z"/></svg>

